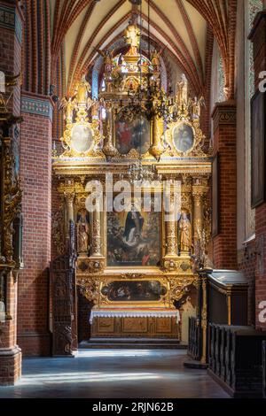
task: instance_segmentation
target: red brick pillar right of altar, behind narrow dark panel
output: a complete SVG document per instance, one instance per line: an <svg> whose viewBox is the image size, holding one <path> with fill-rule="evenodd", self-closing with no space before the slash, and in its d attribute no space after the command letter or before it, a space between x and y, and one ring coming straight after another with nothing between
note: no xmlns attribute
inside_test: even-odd
<svg viewBox="0 0 266 416"><path fill-rule="evenodd" d="M234 101L217 103L214 152L219 155L219 232L214 238L218 269L236 269L237 259L237 109Z"/></svg>

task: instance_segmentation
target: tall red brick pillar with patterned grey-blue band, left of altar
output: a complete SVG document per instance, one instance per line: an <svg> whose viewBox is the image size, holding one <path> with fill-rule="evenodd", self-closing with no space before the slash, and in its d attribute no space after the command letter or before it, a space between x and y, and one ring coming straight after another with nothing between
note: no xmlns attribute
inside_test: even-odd
<svg viewBox="0 0 266 416"><path fill-rule="evenodd" d="M23 92L21 188L24 270L19 281L18 339L24 355L51 354L49 264L51 260L50 97Z"/></svg>

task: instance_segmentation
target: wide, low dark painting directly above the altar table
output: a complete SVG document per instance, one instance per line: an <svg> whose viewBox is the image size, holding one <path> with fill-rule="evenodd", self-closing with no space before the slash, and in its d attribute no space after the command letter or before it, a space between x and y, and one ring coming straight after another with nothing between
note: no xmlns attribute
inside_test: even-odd
<svg viewBox="0 0 266 416"><path fill-rule="evenodd" d="M102 289L111 302L159 302L166 294L160 281L112 281Z"/></svg>

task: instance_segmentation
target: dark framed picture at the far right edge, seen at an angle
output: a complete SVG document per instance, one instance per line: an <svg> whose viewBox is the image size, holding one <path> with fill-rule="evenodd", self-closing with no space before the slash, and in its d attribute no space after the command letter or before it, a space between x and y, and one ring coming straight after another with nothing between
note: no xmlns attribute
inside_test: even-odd
<svg viewBox="0 0 266 416"><path fill-rule="evenodd" d="M257 91L251 100L251 205L266 201L266 95Z"/></svg>

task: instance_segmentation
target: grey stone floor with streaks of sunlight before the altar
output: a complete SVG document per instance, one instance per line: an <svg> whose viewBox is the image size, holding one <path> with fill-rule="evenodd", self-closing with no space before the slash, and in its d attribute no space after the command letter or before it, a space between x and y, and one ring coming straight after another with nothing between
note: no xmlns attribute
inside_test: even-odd
<svg viewBox="0 0 266 416"><path fill-rule="evenodd" d="M184 351L91 350L76 358L26 358L14 398L225 398L204 370L185 369Z"/></svg>

